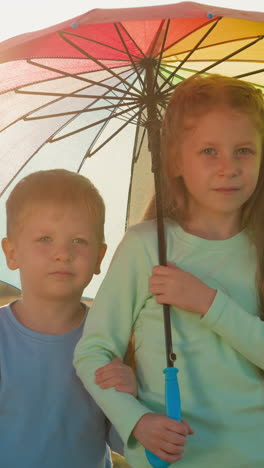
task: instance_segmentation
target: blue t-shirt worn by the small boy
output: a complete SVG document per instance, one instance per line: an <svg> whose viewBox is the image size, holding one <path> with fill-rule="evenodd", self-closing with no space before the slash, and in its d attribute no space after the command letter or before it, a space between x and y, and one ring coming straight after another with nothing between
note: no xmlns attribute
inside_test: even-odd
<svg viewBox="0 0 264 468"><path fill-rule="evenodd" d="M82 330L37 333L0 308L1 467L112 466L109 424L72 366Z"/></svg>

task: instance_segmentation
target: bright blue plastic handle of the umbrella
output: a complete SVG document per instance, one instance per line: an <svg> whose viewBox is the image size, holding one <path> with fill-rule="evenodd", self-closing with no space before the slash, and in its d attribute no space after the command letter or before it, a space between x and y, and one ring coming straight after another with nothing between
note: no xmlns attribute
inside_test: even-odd
<svg viewBox="0 0 264 468"><path fill-rule="evenodd" d="M166 414L170 418L180 421L181 400L177 379L178 369L176 367L167 367L163 372L165 374ZM153 468L167 468L170 466L169 462L161 460L149 450L146 450L146 457Z"/></svg>

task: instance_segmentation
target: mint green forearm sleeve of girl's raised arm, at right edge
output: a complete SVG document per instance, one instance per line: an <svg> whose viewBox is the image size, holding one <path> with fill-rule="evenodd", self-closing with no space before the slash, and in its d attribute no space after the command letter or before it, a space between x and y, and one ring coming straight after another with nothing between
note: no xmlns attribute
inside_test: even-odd
<svg viewBox="0 0 264 468"><path fill-rule="evenodd" d="M251 315L218 290L201 322L252 364L264 369L264 322L258 316Z"/></svg>

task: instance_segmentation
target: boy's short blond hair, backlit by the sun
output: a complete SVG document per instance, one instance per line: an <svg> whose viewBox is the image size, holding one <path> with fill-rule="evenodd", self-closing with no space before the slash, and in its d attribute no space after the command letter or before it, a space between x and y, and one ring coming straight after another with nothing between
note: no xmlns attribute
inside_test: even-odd
<svg viewBox="0 0 264 468"><path fill-rule="evenodd" d="M104 242L105 205L100 193L89 179L66 169L33 172L17 183L6 201L7 236L14 236L32 206L47 202L87 207L87 222L91 216L98 241Z"/></svg>

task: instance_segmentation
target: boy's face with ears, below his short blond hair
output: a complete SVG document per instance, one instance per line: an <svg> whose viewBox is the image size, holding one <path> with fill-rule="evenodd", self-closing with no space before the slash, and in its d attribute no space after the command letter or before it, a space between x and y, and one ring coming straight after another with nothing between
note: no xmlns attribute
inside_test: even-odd
<svg viewBox="0 0 264 468"><path fill-rule="evenodd" d="M21 229L2 245L9 268L20 270L24 296L61 300L80 300L106 250L82 203L33 204Z"/></svg>

